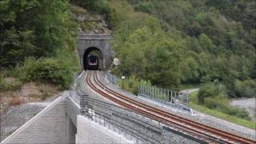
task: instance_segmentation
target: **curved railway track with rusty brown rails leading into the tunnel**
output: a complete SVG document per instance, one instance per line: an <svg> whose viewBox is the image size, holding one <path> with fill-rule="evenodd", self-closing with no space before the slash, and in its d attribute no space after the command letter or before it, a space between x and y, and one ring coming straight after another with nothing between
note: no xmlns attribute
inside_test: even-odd
<svg viewBox="0 0 256 144"><path fill-rule="evenodd" d="M93 74L94 82L91 82L90 80L91 74ZM119 94L118 92L111 90L109 87L102 84L102 82L98 79L97 71L89 71L89 73L86 75L86 82L91 89L96 91L98 94L101 94L103 97L108 98L110 101L133 110L138 114L142 114L159 122L163 122L167 125L175 126L178 129L189 132L196 138L203 137L206 142L215 143L217 141L223 143L256 143L254 140L243 138L235 134L230 134L226 131L218 130L210 126L202 125L201 123L167 113L166 111L159 110L153 106L148 106L142 102L127 98L125 95Z"/></svg>

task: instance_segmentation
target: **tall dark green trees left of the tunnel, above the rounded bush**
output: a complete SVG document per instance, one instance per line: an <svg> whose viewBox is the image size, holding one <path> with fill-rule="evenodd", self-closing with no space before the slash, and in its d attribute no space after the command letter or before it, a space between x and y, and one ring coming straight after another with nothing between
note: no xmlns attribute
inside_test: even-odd
<svg viewBox="0 0 256 144"><path fill-rule="evenodd" d="M67 0L0 2L0 66L15 66L26 57L45 57L74 46L74 22Z"/></svg>

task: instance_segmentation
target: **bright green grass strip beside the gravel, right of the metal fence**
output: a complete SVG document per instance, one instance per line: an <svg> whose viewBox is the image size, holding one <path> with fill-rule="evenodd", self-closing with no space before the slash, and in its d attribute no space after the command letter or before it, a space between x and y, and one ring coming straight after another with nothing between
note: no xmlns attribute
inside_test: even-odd
<svg viewBox="0 0 256 144"><path fill-rule="evenodd" d="M248 120L238 118L238 117L235 117L235 116L232 116L232 115L229 115L229 114L224 114L222 112L219 112L218 110L208 109L205 106L199 105L197 103L197 94L198 94L198 92L194 92L194 93L190 94L189 106L192 109L198 110L198 111L200 111L202 113L205 113L205 114L212 115L212 116L217 117L217 118L222 118L226 121L233 122L233 123L241 125L241 126L249 127L253 130L256 129L256 124L253 121L248 121Z"/></svg>

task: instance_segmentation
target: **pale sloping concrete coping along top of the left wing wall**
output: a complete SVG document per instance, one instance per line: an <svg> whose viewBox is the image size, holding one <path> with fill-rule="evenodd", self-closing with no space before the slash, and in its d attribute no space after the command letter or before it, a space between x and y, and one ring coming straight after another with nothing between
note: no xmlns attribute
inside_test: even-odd
<svg viewBox="0 0 256 144"><path fill-rule="evenodd" d="M48 110L50 110L53 106L56 106L58 102L62 101L66 97L59 97L54 102L51 102L49 106L46 106L42 111L40 111L38 114L36 114L33 118L31 118L28 122L24 123L21 127L19 127L17 130L14 131L13 134L10 134L6 139L4 139L2 143L8 143L10 138L14 136L14 134L19 134L22 130L26 129L26 127L30 126L35 120L40 118L43 114L46 114Z"/></svg>

